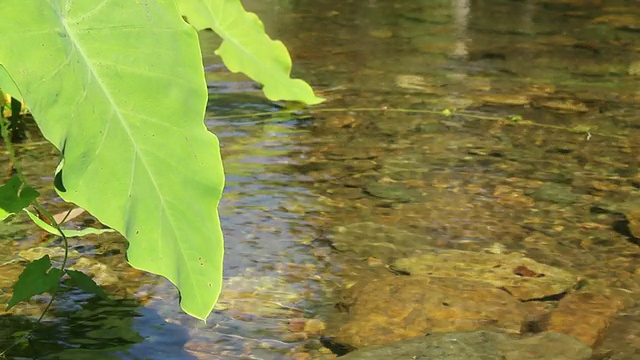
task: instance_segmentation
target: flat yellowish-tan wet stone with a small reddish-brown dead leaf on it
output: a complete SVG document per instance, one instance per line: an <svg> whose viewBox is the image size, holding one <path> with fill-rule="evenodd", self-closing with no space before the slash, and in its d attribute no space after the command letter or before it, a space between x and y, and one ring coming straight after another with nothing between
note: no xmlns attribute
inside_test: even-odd
<svg viewBox="0 0 640 360"><path fill-rule="evenodd" d="M453 277L491 284L520 300L567 292L579 280L568 271L541 264L519 253L441 250L397 260L393 268L411 275Z"/></svg>

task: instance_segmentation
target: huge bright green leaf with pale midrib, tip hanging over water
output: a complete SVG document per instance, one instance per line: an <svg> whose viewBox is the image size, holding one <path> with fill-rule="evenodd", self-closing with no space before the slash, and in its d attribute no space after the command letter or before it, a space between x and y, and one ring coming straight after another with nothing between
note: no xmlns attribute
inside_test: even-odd
<svg viewBox="0 0 640 360"><path fill-rule="evenodd" d="M0 63L63 156L56 187L206 318L222 283L223 171L197 33L173 0L4 0Z"/></svg>

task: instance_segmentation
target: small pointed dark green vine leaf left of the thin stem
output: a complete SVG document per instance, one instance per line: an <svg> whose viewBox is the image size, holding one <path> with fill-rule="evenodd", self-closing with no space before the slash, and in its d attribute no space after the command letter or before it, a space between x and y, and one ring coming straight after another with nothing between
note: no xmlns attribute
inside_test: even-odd
<svg viewBox="0 0 640 360"><path fill-rule="evenodd" d="M11 309L20 301L28 300L32 296L45 292L54 292L58 288L62 270L51 267L49 255L30 262L25 266L18 281L13 285L13 296L9 300L6 310Z"/></svg>

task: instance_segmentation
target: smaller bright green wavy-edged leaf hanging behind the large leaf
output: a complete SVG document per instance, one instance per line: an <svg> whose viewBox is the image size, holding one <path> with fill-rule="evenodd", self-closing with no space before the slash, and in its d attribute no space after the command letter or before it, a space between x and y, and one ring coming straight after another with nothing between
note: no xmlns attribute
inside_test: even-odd
<svg viewBox="0 0 640 360"><path fill-rule="evenodd" d="M227 68L243 72L264 87L270 100L319 104L311 86L291 79L291 57L280 41L264 31L258 16L247 12L240 0L177 0L180 12L198 30L212 29L222 38L216 50Z"/></svg>

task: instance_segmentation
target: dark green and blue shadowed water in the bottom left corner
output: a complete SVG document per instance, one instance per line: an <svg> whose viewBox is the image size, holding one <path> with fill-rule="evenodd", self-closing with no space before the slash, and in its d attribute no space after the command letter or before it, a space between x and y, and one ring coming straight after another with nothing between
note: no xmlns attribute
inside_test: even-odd
<svg viewBox="0 0 640 360"><path fill-rule="evenodd" d="M185 328L137 301L94 298L80 309L50 315L56 321L43 324L34 317L0 316L0 352L21 339L7 351L8 359L195 359L183 350Z"/></svg>

